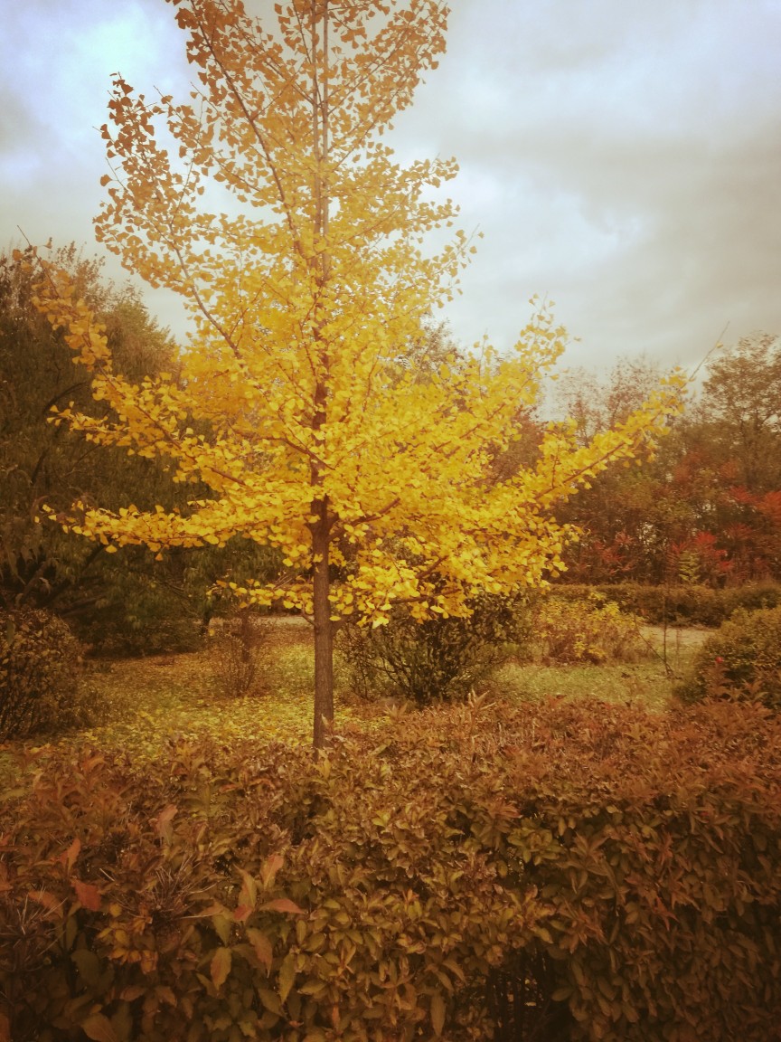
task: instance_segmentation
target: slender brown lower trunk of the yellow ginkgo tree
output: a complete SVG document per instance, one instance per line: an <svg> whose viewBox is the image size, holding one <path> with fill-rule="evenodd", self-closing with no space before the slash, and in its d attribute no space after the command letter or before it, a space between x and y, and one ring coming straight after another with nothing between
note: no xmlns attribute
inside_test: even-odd
<svg viewBox="0 0 781 1042"><path fill-rule="evenodd" d="M333 624L328 600L328 544L330 541L328 504L317 504L320 519L311 526L314 555L313 617L314 617L314 733L316 750L330 743L333 723Z"/></svg>

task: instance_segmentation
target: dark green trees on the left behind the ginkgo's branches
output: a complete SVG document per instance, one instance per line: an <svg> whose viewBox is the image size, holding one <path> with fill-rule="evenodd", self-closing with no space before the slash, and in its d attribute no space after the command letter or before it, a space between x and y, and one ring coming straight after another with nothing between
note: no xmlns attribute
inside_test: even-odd
<svg viewBox="0 0 781 1042"><path fill-rule="evenodd" d="M169 371L176 378L179 349L149 315L137 291L118 287L99 262L75 245L56 251L94 307L129 378ZM119 510L128 497L140 507L176 507L184 490L156 460L98 447L50 410L73 403L95 416L90 377L73 359L62 331L52 330L33 304L32 279L10 251L0 256L0 606L45 607L64 617L87 643L134 652L187 648L213 610L208 591L218 577L264 574L273 555L245 544L179 549L155 561L146 547L108 554L46 519L41 507L65 511L78 499ZM187 494L192 494L188 490Z"/></svg>

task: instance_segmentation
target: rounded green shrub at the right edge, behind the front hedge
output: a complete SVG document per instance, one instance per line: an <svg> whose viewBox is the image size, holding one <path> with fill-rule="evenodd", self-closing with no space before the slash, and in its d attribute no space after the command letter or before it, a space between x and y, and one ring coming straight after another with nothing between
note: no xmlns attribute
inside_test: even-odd
<svg viewBox="0 0 781 1042"><path fill-rule="evenodd" d="M702 645L676 694L684 702L710 696L781 709L781 607L738 609Z"/></svg>

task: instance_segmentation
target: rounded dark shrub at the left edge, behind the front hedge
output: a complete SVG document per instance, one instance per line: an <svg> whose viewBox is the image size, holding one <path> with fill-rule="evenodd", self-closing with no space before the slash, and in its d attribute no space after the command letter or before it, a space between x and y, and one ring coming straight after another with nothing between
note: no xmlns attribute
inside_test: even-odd
<svg viewBox="0 0 781 1042"><path fill-rule="evenodd" d="M90 722L80 653L66 623L51 613L0 611L0 738Z"/></svg>

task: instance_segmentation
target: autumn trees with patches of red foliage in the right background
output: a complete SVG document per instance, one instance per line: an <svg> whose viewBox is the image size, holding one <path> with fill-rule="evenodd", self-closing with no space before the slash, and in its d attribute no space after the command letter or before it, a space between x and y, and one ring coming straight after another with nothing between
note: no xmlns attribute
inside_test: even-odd
<svg viewBox="0 0 781 1042"><path fill-rule="evenodd" d="M659 371L623 359L600 381L579 371L559 403L584 439L616 422ZM781 577L781 342L755 333L707 362L655 458L613 468L559 512L582 535L564 581L739 586Z"/></svg>

